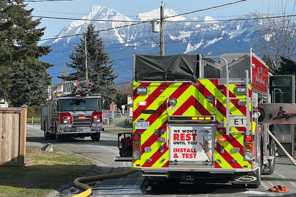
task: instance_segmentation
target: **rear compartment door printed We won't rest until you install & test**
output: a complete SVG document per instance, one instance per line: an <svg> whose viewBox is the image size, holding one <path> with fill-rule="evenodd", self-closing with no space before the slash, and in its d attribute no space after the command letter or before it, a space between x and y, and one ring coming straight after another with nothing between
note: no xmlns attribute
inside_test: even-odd
<svg viewBox="0 0 296 197"><path fill-rule="evenodd" d="M215 126L172 124L169 127L171 164L212 164Z"/></svg>

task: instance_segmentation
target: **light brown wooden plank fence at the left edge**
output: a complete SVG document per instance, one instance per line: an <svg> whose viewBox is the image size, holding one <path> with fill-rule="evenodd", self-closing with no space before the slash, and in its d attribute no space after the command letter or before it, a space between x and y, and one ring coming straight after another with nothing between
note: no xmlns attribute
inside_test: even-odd
<svg viewBox="0 0 296 197"><path fill-rule="evenodd" d="M27 106L0 108L0 168L25 167Z"/></svg>

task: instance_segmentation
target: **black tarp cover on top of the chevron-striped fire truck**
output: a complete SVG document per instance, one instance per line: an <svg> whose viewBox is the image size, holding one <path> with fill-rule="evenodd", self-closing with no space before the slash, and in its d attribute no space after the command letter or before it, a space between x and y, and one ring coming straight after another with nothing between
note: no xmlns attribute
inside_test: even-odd
<svg viewBox="0 0 296 197"><path fill-rule="evenodd" d="M199 77L198 54L135 56L136 81L169 81Z"/></svg>

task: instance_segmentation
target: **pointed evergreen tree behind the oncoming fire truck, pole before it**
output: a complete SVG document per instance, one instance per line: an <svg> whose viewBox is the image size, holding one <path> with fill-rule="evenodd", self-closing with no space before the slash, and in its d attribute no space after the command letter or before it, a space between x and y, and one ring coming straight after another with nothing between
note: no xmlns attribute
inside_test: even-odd
<svg viewBox="0 0 296 197"><path fill-rule="evenodd" d="M105 43L99 33L95 32L94 24L88 25L85 35L88 79L94 82L92 93L101 93L102 98L109 104L114 101L112 97L116 95L113 83L117 76L113 74L113 60L110 60L108 51L105 51ZM72 51L69 55L72 64L67 64L77 72L70 74L67 80L85 80L84 38L80 38L80 41L81 43L75 47L75 52Z"/></svg>

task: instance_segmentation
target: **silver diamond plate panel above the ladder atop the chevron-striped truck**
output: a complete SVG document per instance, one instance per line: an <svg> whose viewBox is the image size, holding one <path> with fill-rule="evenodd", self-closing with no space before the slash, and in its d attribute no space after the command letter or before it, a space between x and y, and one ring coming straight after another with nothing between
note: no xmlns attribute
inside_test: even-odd
<svg viewBox="0 0 296 197"><path fill-rule="evenodd" d="M249 70L250 78L250 54L237 53L237 54L223 54L221 57L225 58L228 63L229 78L246 78L244 70ZM221 60L220 68L221 78L226 78L226 64Z"/></svg>

